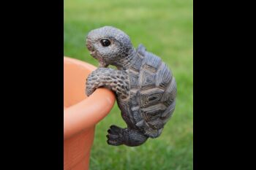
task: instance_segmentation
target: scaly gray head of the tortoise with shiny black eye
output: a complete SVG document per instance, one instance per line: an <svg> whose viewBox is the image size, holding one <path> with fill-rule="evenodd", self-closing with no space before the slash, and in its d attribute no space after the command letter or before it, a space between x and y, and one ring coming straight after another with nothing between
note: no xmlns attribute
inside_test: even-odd
<svg viewBox="0 0 256 170"><path fill-rule="evenodd" d="M86 36L86 47L100 66L113 65L122 67L134 48L129 36L118 28L104 26L89 32Z"/></svg>

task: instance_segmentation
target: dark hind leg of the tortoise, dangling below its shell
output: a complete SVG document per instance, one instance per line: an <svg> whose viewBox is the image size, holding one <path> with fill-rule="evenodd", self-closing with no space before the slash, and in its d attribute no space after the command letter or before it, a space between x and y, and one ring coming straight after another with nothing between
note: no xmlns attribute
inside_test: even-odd
<svg viewBox="0 0 256 170"><path fill-rule="evenodd" d="M110 126L107 137L108 144L115 146L125 144L129 147L139 146L148 139L148 136L141 134L138 130L132 128L119 128L116 125Z"/></svg>

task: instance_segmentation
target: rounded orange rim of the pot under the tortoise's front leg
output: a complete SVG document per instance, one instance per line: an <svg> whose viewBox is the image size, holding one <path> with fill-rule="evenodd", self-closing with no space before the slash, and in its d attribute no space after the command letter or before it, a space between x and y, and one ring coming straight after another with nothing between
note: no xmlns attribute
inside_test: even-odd
<svg viewBox="0 0 256 170"><path fill-rule="evenodd" d="M97 69L89 63L67 56L64 56L64 62L86 67L90 72ZM98 88L91 96L64 109L64 139L86 129L94 128L100 120L108 115L115 101L115 95L111 90Z"/></svg>

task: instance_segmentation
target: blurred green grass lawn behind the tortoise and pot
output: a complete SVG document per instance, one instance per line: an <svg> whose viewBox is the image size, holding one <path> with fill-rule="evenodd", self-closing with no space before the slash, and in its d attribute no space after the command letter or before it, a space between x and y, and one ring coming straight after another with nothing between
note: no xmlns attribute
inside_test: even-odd
<svg viewBox="0 0 256 170"><path fill-rule="evenodd" d="M96 128L91 170L191 170L193 165L193 16L192 0L64 0L64 55L97 66L85 47L86 34L110 25L125 31L159 55L178 86L176 111L162 135L140 147L106 143L110 125L125 127L115 105Z"/></svg>

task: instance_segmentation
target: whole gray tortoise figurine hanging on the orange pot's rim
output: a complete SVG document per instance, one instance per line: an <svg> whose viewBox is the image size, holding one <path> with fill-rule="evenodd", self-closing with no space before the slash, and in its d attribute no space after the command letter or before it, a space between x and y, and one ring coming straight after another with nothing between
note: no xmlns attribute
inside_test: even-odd
<svg viewBox="0 0 256 170"><path fill-rule="evenodd" d="M99 61L86 80L86 95L100 87L113 90L127 123L127 128L110 126L108 144L133 147L157 138L176 106L176 81L167 65L143 45L136 50L129 36L112 26L90 31L86 46Z"/></svg>

